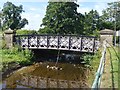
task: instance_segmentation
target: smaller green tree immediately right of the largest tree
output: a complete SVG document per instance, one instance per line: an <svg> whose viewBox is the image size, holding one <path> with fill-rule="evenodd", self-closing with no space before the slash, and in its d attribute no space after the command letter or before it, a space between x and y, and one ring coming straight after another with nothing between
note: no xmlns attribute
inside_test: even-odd
<svg viewBox="0 0 120 90"><path fill-rule="evenodd" d="M100 16L95 10L91 10L89 13L85 13L84 18L84 33L86 35L93 35L96 30L100 29Z"/></svg>

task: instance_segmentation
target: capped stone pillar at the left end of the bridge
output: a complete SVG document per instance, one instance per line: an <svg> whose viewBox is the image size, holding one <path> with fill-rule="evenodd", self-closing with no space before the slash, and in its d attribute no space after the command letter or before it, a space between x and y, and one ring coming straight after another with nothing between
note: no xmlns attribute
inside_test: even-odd
<svg viewBox="0 0 120 90"><path fill-rule="evenodd" d="M6 42L6 48L12 48L13 47L13 36L15 35L14 30L6 30L4 32L5 34L5 42Z"/></svg>

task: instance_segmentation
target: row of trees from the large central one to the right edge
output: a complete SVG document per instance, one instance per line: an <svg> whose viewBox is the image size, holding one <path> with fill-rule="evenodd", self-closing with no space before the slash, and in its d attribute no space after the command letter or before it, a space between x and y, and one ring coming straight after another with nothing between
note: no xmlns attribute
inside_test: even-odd
<svg viewBox="0 0 120 90"><path fill-rule="evenodd" d="M41 25L44 28L39 33L99 36L98 31L102 29L114 29L115 18L117 30L120 29L120 2L108 3L101 16L97 10L82 15L77 7L75 2L49 2Z"/></svg>

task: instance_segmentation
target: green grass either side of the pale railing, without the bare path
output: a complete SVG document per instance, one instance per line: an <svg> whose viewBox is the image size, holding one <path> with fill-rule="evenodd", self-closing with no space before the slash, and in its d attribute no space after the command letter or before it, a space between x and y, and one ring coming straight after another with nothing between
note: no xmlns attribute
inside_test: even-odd
<svg viewBox="0 0 120 90"><path fill-rule="evenodd" d="M102 50L102 49L101 49ZM115 51L118 51L118 48L115 48ZM107 48L107 54L111 54L111 59L110 59L110 66L109 68L106 68L107 70L110 70L110 73L112 77L110 77L112 80L112 87L117 88L118 87L118 58L116 56L114 49L112 47ZM99 63L100 63L100 58L101 58L101 52L98 51L97 54L94 55L94 58L91 63L91 73L88 77L88 83L92 86L93 80L95 79L95 74L98 69ZM118 54L118 53L117 53ZM107 55L106 58L110 58L110 55ZM104 73L103 73L104 74ZM111 82L111 81L109 81ZM107 85L108 83L106 83Z"/></svg>

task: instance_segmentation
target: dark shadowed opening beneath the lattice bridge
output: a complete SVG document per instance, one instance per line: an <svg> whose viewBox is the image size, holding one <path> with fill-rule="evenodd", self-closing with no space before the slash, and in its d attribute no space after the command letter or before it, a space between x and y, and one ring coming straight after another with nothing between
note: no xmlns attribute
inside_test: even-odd
<svg viewBox="0 0 120 90"><path fill-rule="evenodd" d="M68 50L54 50L54 49L32 49L34 53L35 62L56 62L59 57L58 62L67 62L67 63L80 63L83 61L83 55L93 55L94 53L88 52L77 52L77 51L68 51Z"/></svg>

